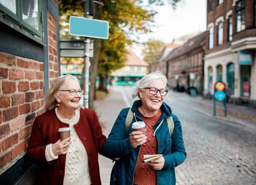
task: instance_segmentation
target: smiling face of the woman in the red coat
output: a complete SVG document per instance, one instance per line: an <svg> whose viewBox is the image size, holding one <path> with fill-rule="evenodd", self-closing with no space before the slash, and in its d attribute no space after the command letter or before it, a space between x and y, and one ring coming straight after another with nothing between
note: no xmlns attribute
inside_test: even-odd
<svg viewBox="0 0 256 185"><path fill-rule="evenodd" d="M61 90L80 90L80 85L76 80L69 80L67 83L61 87ZM58 109L63 113L69 112L74 113L76 109L79 108L79 101L82 98L82 95L77 92L76 95L71 95L70 91L61 91L59 97L56 97L57 102L60 104Z"/></svg>

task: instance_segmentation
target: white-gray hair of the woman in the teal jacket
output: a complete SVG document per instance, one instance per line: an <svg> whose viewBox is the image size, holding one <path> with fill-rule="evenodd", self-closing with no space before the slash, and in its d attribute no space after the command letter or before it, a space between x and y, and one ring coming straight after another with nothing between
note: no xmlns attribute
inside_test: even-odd
<svg viewBox="0 0 256 185"><path fill-rule="evenodd" d="M168 80L166 76L162 74L161 71L151 72L150 74L147 74L146 76L144 76L142 79L138 80L133 86L132 98L138 97L140 99L139 90L141 89L142 91L144 91L144 87L148 87L151 83L153 83L155 80L158 80L158 79L163 81L165 85L165 89L168 90L168 93L166 94L166 98L169 99L169 102L170 102L172 91L168 89L167 87Z"/></svg>

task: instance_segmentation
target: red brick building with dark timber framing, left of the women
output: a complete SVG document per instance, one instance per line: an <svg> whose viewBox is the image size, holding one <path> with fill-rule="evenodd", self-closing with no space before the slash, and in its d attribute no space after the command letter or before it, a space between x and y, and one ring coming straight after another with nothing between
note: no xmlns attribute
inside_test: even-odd
<svg viewBox="0 0 256 185"><path fill-rule="evenodd" d="M31 166L32 124L60 75L58 1L1 1L0 27L0 182L14 184Z"/></svg>

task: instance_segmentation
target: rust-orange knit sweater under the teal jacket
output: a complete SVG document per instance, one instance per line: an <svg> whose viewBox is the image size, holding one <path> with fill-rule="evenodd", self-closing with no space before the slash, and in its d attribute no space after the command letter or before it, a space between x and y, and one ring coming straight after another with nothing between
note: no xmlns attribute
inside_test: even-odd
<svg viewBox="0 0 256 185"><path fill-rule="evenodd" d="M139 109L138 109L139 110ZM141 113L142 114L142 113ZM149 154L157 154L157 138L154 139L154 124L158 121L160 118L162 112L159 109L157 114L155 114L153 117L144 117L142 114L142 118L146 124L146 136L147 136L147 142L144 143L139 151L139 156L135 168L135 173L133 176L133 184L136 185L156 185L157 184L157 171L152 168L152 166L144 164L139 164L140 161L143 159L143 155L149 155Z"/></svg>

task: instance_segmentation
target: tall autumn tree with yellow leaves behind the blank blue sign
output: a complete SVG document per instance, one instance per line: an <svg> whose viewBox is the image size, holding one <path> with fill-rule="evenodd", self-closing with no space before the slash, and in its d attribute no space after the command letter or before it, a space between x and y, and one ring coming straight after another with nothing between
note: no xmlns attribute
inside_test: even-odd
<svg viewBox="0 0 256 185"><path fill-rule="evenodd" d="M67 15L79 16L78 12L82 11L77 6L77 1L59 0L60 17L66 14L65 19L68 20ZM167 1L175 5L180 0ZM101 2L104 4L103 7L95 3L92 18L109 22L109 39L93 39L94 56L90 60L90 108L93 108L96 76L99 75L102 79L106 76L107 60L107 72L122 67L125 61L125 47L138 40L139 34L151 32L154 15L157 13L154 10L144 9L143 0L101 0ZM148 5L162 5L165 2L165 0L147 0Z"/></svg>

